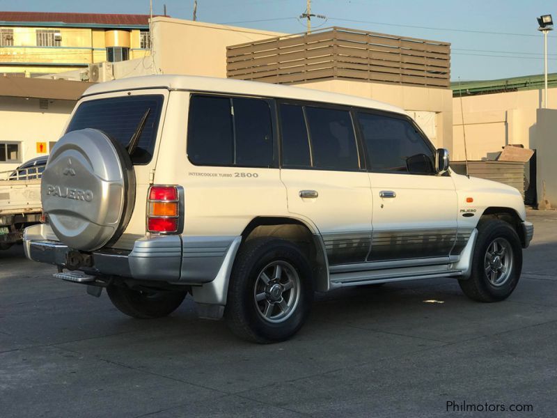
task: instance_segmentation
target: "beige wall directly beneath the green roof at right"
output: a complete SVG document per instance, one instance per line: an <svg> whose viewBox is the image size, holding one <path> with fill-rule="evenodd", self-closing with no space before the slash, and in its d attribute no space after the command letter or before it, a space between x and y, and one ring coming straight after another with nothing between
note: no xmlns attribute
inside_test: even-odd
<svg viewBox="0 0 557 418"><path fill-rule="evenodd" d="M474 95L462 98L469 160L498 153L507 144L532 146L531 128L542 107L541 90ZM464 160L460 98L453 98L453 160ZM557 88L549 89L549 107L557 107ZM539 154L538 154L539 158Z"/></svg>

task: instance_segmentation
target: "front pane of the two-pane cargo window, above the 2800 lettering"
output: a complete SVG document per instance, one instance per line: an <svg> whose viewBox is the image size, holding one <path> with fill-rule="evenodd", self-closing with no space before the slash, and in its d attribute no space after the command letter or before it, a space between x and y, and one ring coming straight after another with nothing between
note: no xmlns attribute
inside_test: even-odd
<svg viewBox="0 0 557 418"><path fill-rule="evenodd" d="M236 164L240 167L271 167L273 141L271 109L265 100L232 100L236 130Z"/></svg>

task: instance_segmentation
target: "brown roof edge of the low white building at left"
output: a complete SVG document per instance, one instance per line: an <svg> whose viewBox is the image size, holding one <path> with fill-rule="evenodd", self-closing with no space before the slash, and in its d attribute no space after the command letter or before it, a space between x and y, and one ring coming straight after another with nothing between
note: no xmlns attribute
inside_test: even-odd
<svg viewBox="0 0 557 418"><path fill-rule="evenodd" d="M0 96L78 100L93 83L0 76Z"/></svg>

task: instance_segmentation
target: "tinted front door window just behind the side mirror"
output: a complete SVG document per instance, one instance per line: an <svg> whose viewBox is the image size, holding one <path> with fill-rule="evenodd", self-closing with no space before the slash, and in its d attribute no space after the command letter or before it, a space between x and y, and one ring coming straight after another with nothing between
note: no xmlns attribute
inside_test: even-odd
<svg viewBox="0 0 557 418"><path fill-rule="evenodd" d="M416 127L405 119L359 112L370 171L434 173L434 153Z"/></svg>

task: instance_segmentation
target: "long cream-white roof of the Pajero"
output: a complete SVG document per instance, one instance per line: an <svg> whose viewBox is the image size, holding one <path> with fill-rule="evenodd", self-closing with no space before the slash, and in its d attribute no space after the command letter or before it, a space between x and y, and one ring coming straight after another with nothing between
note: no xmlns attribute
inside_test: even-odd
<svg viewBox="0 0 557 418"><path fill-rule="evenodd" d="M404 109L393 106L392 104L360 98L354 95L329 93L328 91L319 91L314 90L313 88L281 86L278 84L246 82L237 79L199 77L193 75L146 75L142 77L118 79L112 82L95 84L95 86L91 86L85 91L84 96L108 93L111 91L157 87L168 88L168 90L206 91L212 93L231 93L294 100L309 100L313 102L345 104L354 107L366 107L370 109L406 114Z"/></svg>

